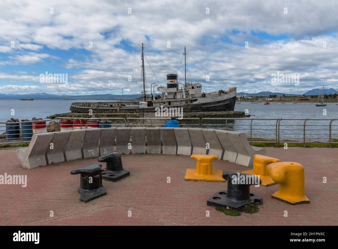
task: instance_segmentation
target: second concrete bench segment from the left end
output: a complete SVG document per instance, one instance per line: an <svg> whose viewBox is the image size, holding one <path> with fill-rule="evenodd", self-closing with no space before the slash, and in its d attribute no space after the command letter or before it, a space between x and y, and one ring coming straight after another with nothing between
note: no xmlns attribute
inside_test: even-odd
<svg viewBox="0 0 338 249"><path fill-rule="evenodd" d="M64 150L66 148L70 131L54 132L51 145L46 153L47 164L65 161Z"/></svg>

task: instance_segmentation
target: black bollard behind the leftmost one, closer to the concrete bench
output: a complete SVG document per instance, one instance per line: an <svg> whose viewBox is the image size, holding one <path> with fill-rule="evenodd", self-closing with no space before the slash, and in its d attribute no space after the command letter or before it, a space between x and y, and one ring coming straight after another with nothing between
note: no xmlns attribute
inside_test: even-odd
<svg viewBox="0 0 338 249"><path fill-rule="evenodd" d="M99 162L106 162L106 168L102 169L102 177L105 180L116 182L130 175L123 169L121 155L118 152L101 156Z"/></svg>

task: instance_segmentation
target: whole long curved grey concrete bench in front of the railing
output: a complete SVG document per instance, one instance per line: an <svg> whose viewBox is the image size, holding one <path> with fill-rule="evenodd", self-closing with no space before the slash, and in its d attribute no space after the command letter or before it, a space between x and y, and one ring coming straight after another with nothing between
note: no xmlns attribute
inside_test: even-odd
<svg viewBox="0 0 338 249"><path fill-rule="evenodd" d="M146 136L148 153L160 154L162 140L162 154L217 155L219 159L245 167L253 166L255 154L266 154L264 148L251 146L245 133L200 128L126 127L35 134L29 147L17 149L17 155L27 168L97 157L114 152L115 136L116 152L121 154L130 154L130 149L133 154L145 153ZM50 149L51 142L53 149ZM209 143L208 150L206 143Z"/></svg>

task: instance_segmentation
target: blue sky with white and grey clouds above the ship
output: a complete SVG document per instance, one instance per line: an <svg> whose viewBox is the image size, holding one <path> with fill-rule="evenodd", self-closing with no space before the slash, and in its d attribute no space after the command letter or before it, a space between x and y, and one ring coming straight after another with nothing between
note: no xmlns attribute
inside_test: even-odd
<svg viewBox="0 0 338 249"><path fill-rule="evenodd" d="M186 46L188 78L203 89L337 89L337 9L329 0L1 0L0 93L139 93L142 42L161 85L172 72L184 82ZM68 84L41 83L46 71ZM271 83L278 71L299 73L299 85Z"/></svg>

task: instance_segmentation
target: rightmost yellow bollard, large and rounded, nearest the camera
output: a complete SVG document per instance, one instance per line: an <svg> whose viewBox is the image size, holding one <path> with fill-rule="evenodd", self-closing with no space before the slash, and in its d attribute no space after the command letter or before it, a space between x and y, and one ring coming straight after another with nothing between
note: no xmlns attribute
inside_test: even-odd
<svg viewBox="0 0 338 249"><path fill-rule="evenodd" d="M279 183L272 198L291 205L310 203L305 196L304 167L296 162L275 162L268 165L272 180Z"/></svg>

